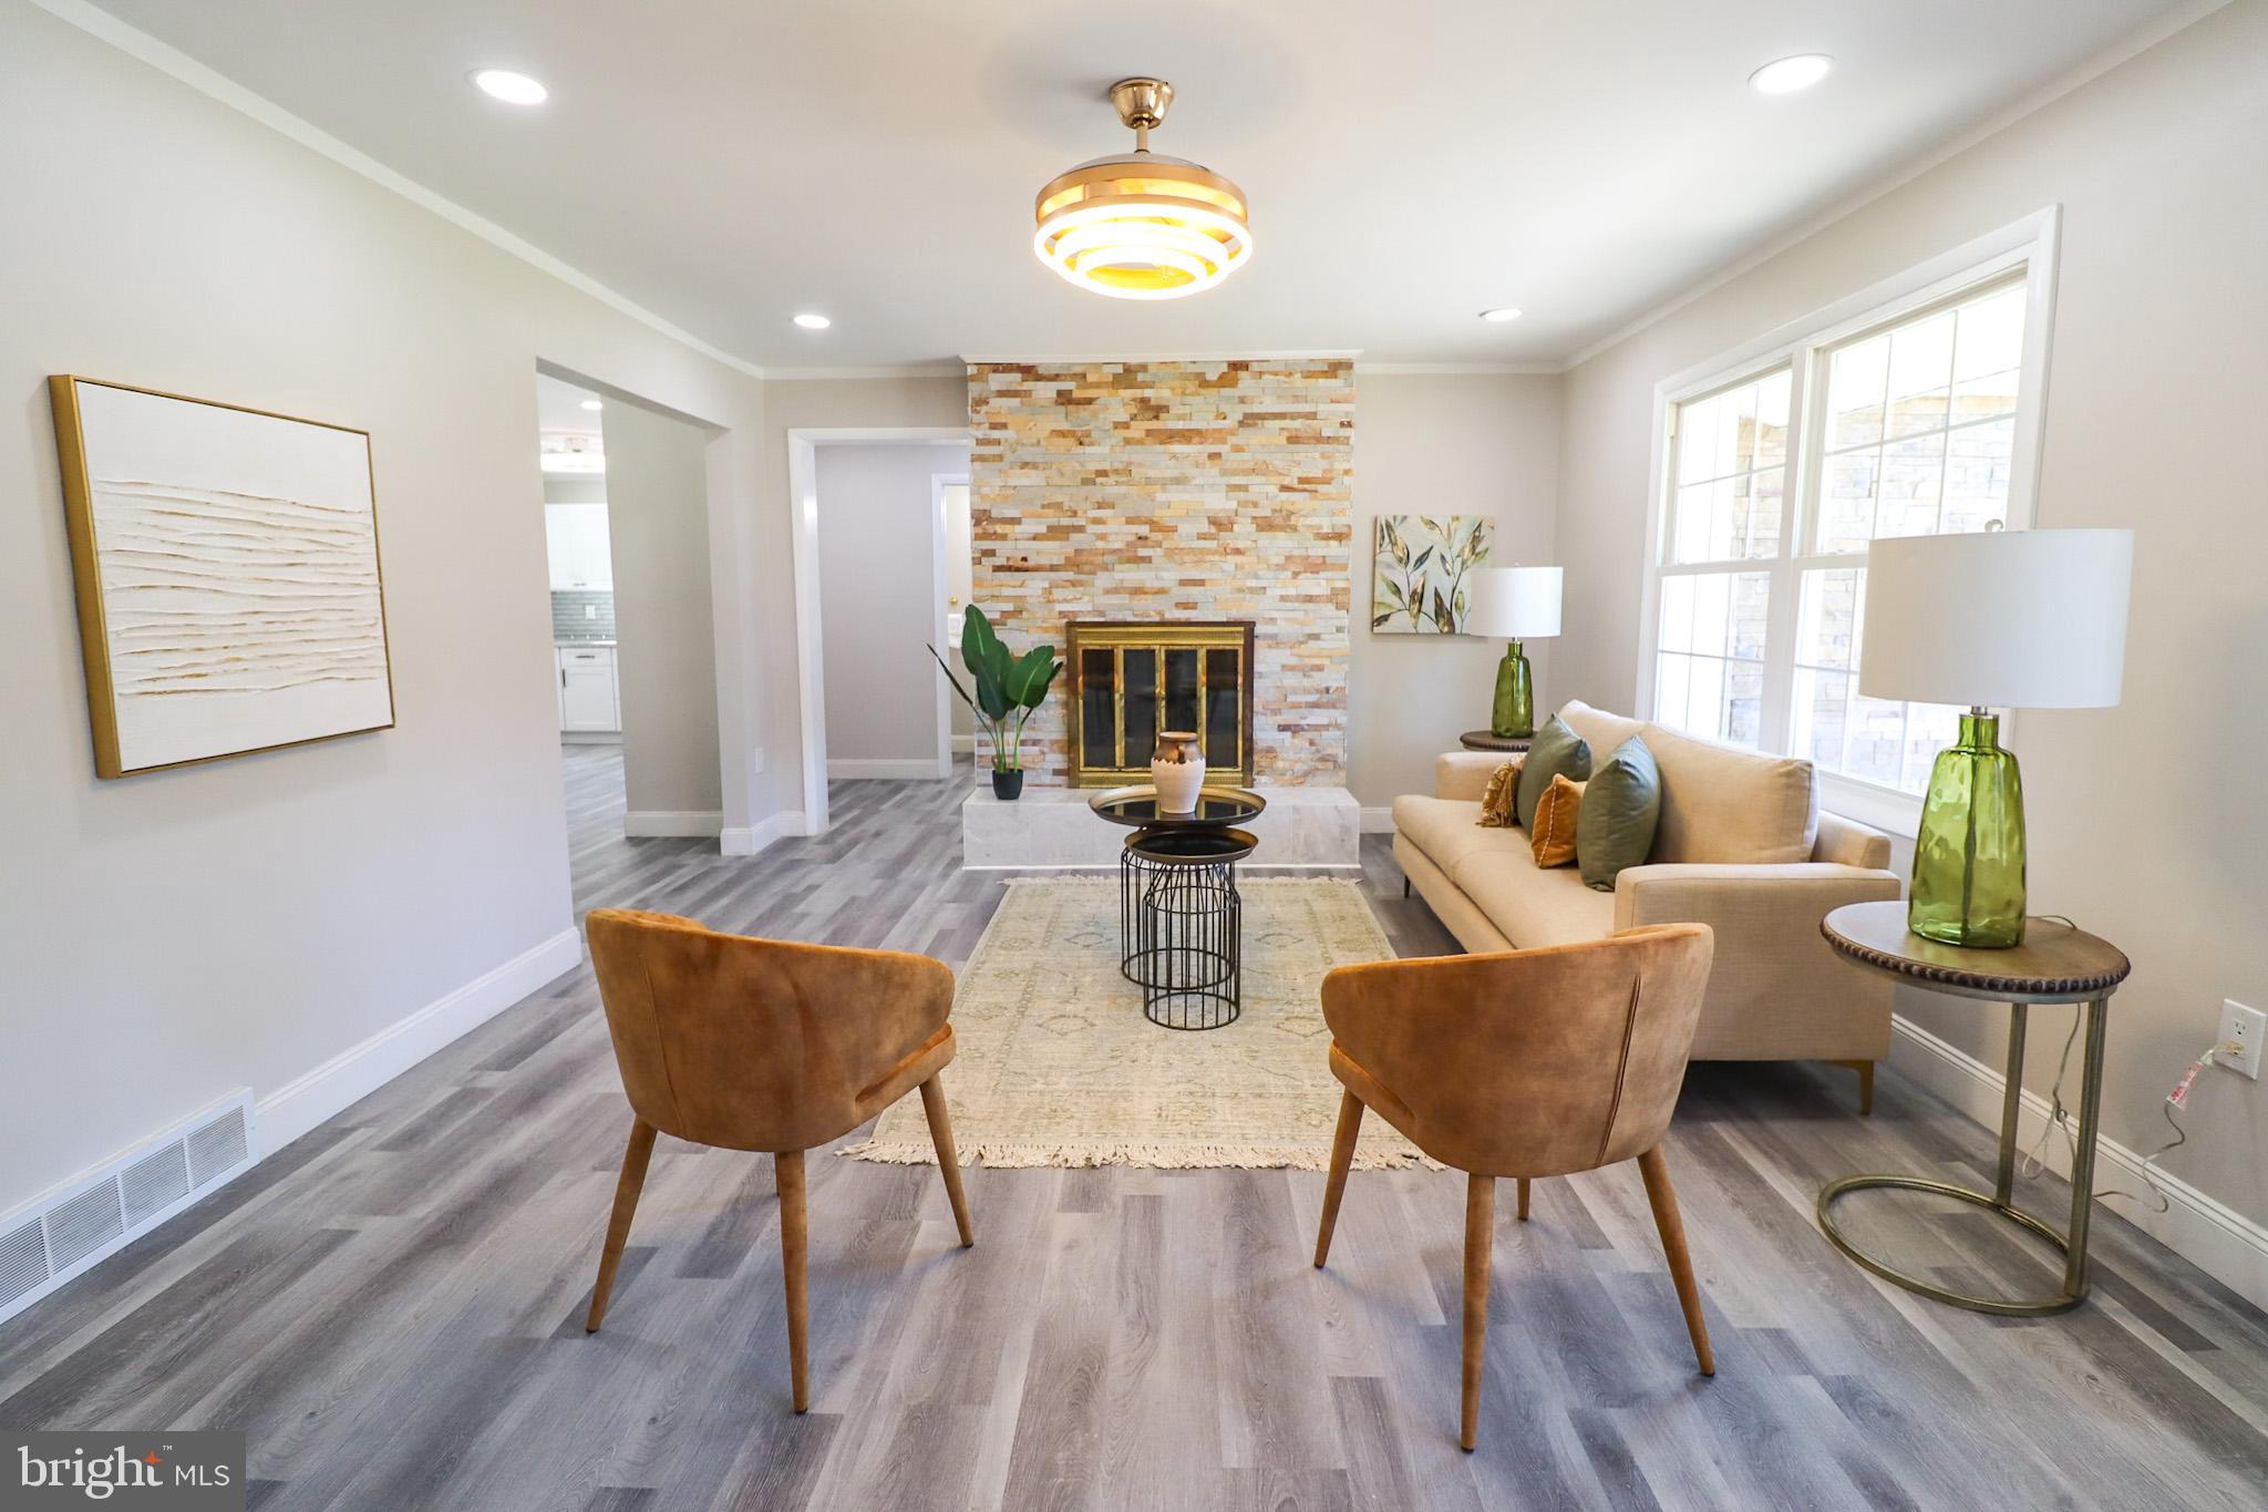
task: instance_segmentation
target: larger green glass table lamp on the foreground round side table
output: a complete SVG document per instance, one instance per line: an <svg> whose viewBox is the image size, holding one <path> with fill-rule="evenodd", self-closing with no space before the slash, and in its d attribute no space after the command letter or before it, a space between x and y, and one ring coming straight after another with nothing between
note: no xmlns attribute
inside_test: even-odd
<svg viewBox="0 0 2268 1512"><path fill-rule="evenodd" d="M1991 710L2118 703L2132 567L2132 530L1916 535L1867 553L1857 691L1969 705L1921 800L1914 934L2023 943L2023 780Z"/></svg>

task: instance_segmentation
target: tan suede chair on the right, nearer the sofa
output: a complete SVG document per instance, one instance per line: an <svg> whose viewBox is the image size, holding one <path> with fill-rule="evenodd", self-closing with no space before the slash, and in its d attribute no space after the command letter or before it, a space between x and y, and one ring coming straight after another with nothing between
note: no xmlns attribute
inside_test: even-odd
<svg viewBox="0 0 2268 1512"><path fill-rule="evenodd" d="M1340 966L1322 979L1338 1106L1315 1265L1347 1188L1363 1108L1465 1181L1465 1415L1474 1444L1488 1337L1488 1245L1497 1177L1529 1179L1637 1161L1701 1374L1717 1374L1685 1226L1660 1140L1708 988L1708 925L1649 925L1603 941L1486 957Z"/></svg>

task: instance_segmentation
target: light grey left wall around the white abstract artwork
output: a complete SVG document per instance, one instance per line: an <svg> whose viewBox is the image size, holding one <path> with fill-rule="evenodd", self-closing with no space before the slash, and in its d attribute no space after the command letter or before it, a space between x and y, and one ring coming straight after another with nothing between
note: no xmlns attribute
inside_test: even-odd
<svg viewBox="0 0 2268 1512"><path fill-rule="evenodd" d="M5 1211L245 1084L270 1133L327 1115L574 963L535 365L730 431L705 460L728 585L760 546L762 392L29 5L0 7L0 202L23 211L0 238ZM95 780L52 372L372 433L399 728ZM742 644L721 682L746 728ZM739 784L744 814L767 798Z"/></svg>

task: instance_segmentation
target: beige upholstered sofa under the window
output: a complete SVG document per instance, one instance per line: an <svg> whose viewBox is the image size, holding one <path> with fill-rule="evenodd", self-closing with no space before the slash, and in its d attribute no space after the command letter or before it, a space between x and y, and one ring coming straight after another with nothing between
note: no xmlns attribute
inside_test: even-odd
<svg viewBox="0 0 2268 1512"><path fill-rule="evenodd" d="M1599 938L1633 925L1703 923L1717 932L1694 1036L1696 1061L1837 1061L1873 1102L1889 1054L1892 984L1842 963L1819 936L1828 909L1896 898L1889 836L1819 812L1812 764L1676 734L1569 703L1560 710L1603 762L1644 734L1662 773L1653 855L1583 886L1574 866L1538 868L1526 830L1483 830L1481 791L1504 757L1456 750L1433 796L1395 798L1395 859L1465 950Z"/></svg>

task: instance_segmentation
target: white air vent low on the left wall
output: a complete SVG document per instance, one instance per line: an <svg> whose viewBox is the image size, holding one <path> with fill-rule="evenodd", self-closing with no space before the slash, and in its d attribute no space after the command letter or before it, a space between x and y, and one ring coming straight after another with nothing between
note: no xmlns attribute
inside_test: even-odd
<svg viewBox="0 0 2268 1512"><path fill-rule="evenodd" d="M0 1322L252 1163L252 1093L202 1108L91 1177L0 1217Z"/></svg>

